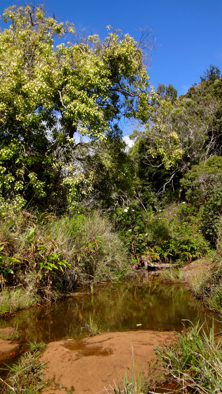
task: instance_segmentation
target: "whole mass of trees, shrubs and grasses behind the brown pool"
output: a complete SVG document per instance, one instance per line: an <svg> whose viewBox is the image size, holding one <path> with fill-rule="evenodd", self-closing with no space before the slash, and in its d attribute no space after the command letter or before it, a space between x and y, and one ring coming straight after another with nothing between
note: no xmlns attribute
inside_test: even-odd
<svg viewBox="0 0 222 394"><path fill-rule="evenodd" d="M108 26L103 40L31 3L3 18L1 315L135 275L144 261L220 264L218 67L178 98L150 85L152 31L135 41Z"/></svg>

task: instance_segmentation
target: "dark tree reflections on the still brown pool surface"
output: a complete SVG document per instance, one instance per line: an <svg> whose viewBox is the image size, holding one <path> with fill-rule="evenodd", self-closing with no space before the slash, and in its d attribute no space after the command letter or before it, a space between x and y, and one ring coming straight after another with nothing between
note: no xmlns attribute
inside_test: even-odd
<svg viewBox="0 0 222 394"><path fill-rule="evenodd" d="M19 312L4 326L23 331L24 341L54 341L80 337L81 327L94 315L104 330L183 328L182 319L204 321L202 305L181 285L128 282L96 289L87 295ZM0 327L2 327L0 322ZM83 335L86 332L83 331ZM82 336L83 337L83 336Z"/></svg>

